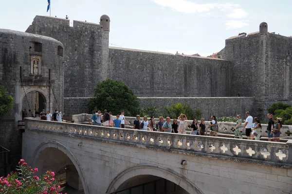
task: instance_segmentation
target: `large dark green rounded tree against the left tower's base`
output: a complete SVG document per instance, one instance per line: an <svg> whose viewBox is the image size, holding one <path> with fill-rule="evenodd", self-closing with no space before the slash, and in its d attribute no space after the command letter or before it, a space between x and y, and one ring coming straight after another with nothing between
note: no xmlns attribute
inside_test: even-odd
<svg viewBox="0 0 292 194"><path fill-rule="evenodd" d="M89 109L92 112L107 109L113 115L125 111L127 116L136 116L139 113L139 99L124 82L107 79L94 88Z"/></svg>

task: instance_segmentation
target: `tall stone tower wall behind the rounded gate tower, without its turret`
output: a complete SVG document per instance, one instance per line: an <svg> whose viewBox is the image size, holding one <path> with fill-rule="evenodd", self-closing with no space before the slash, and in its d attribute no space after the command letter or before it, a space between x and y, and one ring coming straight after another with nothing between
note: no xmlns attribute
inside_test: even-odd
<svg viewBox="0 0 292 194"><path fill-rule="evenodd" d="M109 31L100 25L73 21L70 27L68 19L36 16L27 32L64 44L64 97L91 97L96 83L107 78Z"/></svg>

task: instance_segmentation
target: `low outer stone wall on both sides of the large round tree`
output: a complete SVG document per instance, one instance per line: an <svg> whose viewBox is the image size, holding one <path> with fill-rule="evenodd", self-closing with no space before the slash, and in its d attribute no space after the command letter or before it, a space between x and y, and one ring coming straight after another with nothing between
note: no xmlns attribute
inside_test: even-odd
<svg viewBox="0 0 292 194"><path fill-rule="evenodd" d="M138 97L141 107L157 106L164 110L164 106L172 103L189 104L192 109L199 109L202 116L209 118L211 114L218 117L244 115L246 111L254 112L253 97ZM88 110L89 97L65 97L64 113L66 117L73 114L91 113ZM110 110L109 110L110 111Z"/></svg>

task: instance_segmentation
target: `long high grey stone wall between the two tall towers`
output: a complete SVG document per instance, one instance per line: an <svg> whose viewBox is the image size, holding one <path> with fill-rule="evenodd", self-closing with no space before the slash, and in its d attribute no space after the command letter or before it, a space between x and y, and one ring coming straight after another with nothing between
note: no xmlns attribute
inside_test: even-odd
<svg viewBox="0 0 292 194"><path fill-rule="evenodd" d="M220 59L110 48L110 79L138 97L228 97L230 67Z"/></svg>

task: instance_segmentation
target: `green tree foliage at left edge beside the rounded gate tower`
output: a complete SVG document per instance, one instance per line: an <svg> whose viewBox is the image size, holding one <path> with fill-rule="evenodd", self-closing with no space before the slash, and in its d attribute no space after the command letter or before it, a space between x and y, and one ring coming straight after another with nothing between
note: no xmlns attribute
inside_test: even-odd
<svg viewBox="0 0 292 194"><path fill-rule="evenodd" d="M13 105L13 97L8 94L4 86L0 86L0 119L12 109Z"/></svg>

